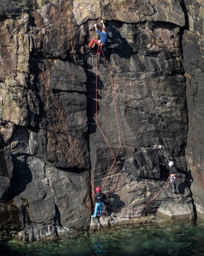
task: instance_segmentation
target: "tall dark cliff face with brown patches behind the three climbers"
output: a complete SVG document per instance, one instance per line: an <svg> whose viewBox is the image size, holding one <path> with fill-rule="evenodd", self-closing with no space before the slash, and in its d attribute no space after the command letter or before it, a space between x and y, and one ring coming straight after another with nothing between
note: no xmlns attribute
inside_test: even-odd
<svg viewBox="0 0 204 256"><path fill-rule="evenodd" d="M33 240L88 229L91 184L107 193L110 222L192 218L191 192L203 214L203 12L191 4L1 1L1 230ZM110 39L97 63L87 45L101 18ZM132 210L160 191L169 160L181 194L168 184Z"/></svg>

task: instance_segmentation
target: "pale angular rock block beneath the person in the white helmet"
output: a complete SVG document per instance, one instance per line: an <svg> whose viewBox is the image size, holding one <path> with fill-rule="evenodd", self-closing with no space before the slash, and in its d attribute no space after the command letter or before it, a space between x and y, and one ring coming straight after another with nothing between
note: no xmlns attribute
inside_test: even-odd
<svg viewBox="0 0 204 256"><path fill-rule="evenodd" d="M160 204L156 215L168 220L193 220L195 217L192 204L179 204L175 202Z"/></svg>

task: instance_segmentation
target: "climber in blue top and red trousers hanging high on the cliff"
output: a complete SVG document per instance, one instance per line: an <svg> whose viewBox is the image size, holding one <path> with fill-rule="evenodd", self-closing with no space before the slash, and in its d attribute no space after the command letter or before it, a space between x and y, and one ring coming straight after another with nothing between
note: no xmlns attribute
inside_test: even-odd
<svg viewBox="0 0 204 256"><path fill-rule="evenodd" d="M104 24L104 21L101 20L100 21L103 25L103 28L101 31L99 31L99 29L97 28L97 24L95 23L94 24L94 27L96 29L96 33L100 35L100 39L99 40L96 40L96 39L92 39L90 41L90 43L88 44L88 49L90 50L90 48L93 46L93 44L95 43L96 45L99 45L98 47L98 50L97 50L97 57L100 58L100 53L101 53L101 50L102 51L105 51L105 46L106 46L106 43L108 41L108 31L105 27L105 24Z"/></svg>

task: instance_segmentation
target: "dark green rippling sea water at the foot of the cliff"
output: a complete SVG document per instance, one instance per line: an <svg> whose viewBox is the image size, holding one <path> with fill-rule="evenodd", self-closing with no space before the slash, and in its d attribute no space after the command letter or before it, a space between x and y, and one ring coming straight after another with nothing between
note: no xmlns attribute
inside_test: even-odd
<svg viewBox="0 0 204 256"><path fill-rule="evenodd" d="M0 241L0 256L204 256L204 221L125 226L53 242Z"/></svg>

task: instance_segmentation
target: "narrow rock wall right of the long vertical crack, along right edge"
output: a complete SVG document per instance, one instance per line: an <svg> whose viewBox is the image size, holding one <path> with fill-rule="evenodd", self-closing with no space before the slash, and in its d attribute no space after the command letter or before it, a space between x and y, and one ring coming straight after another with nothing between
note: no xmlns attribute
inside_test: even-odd
<svg viewBox="0 0 204 256"><path fill-rule="evenodd" d="M186 162L188 186L198 217L204 218L204 3L186 4L188 28L183 32L183 67L186 76L188 133Z"/></svg>

